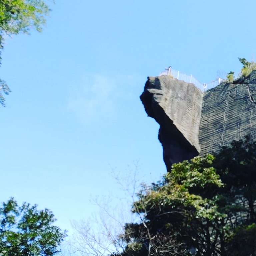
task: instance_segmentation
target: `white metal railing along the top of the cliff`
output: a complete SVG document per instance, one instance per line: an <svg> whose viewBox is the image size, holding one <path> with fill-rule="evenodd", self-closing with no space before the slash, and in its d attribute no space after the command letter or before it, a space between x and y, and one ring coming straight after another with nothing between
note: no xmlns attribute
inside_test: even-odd
<svg viewBox="0 0 256 256"><path fill-rule="evenodd" d="M209 83L201 83L199 80L197 80L193 75L187 75L180 71L174 70L171 67L166 68L165 71L160 73L160 76L162 75L171 75L174 78L177 78L178 80L184 81L186 83L192 83L196 87L198 87L200 90L205 91L207 89L214 88L215 86L219 85L220 83L224 82L225 79L223 78L217 78Z"/></svg>

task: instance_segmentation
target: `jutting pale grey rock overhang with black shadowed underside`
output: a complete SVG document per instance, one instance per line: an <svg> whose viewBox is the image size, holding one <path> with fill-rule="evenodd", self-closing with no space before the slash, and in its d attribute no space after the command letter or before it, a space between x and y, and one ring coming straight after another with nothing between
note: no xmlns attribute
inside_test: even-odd
<svg viewBox="0 0 256 256"><path fill-rule="evenodd" d="M148 77L140 98L148 116L160 124L158 137L167 170L172 163L199 154L203 93L194 84L167 75Z"/></svg>

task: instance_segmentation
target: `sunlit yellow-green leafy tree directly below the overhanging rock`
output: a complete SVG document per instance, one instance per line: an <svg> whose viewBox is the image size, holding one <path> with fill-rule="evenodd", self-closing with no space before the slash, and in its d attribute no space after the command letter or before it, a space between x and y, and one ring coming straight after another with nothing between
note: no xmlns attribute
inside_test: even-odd
<svg viewBox="0 0 256 256"><path fill-rule="evenodd" d="M216 255L223 218L216 193L223 183L213 160L207 155L174 164L162 181L139 192L132 211L143 222L126 225L122 255L130 255L134 243L140 250L132 255Z"/></svg>

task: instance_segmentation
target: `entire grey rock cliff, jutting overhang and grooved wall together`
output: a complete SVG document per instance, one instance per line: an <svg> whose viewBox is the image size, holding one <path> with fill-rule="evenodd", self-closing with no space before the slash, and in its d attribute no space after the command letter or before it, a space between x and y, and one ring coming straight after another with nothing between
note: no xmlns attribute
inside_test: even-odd
<svg viewBox="0 0 256 256"><path fill-rule="evenodd" d="M256 70L205 93L169 76L148 77L140 98L148 116L160 124L167 170L247 134L256 139Z"/></svg>

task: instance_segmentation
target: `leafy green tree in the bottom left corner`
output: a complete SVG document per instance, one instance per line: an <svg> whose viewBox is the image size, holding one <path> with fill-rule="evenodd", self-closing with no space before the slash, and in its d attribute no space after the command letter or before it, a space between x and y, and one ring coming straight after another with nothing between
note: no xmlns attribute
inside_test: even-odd
<svg viewBox="0 0 256 256"><path fill-rule="evenodd" d="M51 256L66 236L54 226L54 215L48 209L23 203L18 206L11 198L0 208L1 256Z"/></svg>

